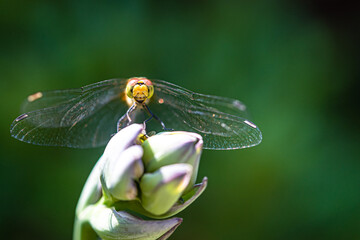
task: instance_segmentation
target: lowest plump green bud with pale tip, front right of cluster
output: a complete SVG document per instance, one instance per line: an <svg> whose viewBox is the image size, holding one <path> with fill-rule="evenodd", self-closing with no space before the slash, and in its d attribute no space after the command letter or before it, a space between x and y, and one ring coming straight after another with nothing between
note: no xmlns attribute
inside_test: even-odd
<svg viewBox="0 0 360 240"><path fill-rule="evenodd" d="M166 213L181 197L192 175L192 166L186 163L161 167L141 178L141 204L145 210L161 215Z"/></svg>

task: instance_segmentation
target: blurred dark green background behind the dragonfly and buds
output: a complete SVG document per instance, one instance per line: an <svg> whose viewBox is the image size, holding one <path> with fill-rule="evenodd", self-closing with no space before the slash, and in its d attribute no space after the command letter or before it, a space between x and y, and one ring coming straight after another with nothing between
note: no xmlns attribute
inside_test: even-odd
<svg viewBox="0 0 360 240"><path fill-rule="evenodd" d="M360 239L359 11L350 1L0 3L0 238L71 239L103 149L10 137L41 90L146 76L242 100L261 145L204 151L171 239Z"/></svg>

